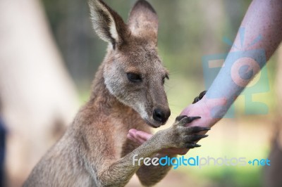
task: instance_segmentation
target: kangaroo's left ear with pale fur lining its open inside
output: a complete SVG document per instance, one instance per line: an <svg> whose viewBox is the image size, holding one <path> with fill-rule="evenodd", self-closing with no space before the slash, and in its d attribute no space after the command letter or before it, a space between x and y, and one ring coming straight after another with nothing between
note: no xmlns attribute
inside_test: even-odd
<svg viewBox="0 0 282 187"><path fill-rule="evenodd" d="M113 45L125 42L128 34L128 26L121 16L107 6L102 0L89 0L92 25L98 36Z"/></svg>

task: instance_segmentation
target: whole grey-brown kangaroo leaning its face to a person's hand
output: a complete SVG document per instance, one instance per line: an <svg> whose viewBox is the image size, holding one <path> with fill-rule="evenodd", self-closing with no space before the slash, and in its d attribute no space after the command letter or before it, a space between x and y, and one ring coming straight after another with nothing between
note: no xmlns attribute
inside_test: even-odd
<svg viewBox="0 0 282 187"><path fill-rule="evenodd" d="M140 157L162 157L164 148L195 148L204 127L185 127L200 117L180 116L141 146L128 130L150 132L171 112L164 91L168 71L157 54L158 18L144 0L125 24L103 1L90 0L92 24L109 43L89 101L66 133L32 170L23 186L125 186L137 174L144 186L159 182L171 166L133 165ZM168 155L173 157L175 155Z"/></svg>

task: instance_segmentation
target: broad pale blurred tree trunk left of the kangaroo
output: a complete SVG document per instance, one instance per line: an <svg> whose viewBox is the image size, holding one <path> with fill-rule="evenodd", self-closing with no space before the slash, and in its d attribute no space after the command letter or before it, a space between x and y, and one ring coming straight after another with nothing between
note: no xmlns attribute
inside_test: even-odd
<svg viewBox="0 0 282 187"><path fill-rule="evenodd" d="M0 1L0 100L8 130L7 186L21 186L78 109L37 0Z"/></svg>

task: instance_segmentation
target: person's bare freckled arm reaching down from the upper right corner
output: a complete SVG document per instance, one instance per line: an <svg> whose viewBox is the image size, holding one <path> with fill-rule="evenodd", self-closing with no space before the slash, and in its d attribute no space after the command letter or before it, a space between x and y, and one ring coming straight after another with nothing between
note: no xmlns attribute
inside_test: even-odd
<svg viewBox="0 0 282 187"><path fill-rule="evenodd" d="M224 68L221 68L202 101L195 107L188 106L181 114L191 115L198 109L209 110L208 115L212 119L204 122L209 127L221 119L277 49L282 39L281 30L282 1L252 1L226 57ZM242 71L244 66L247 70ZM201 121L204 121L205 115L207 113L201 115Z"/></svg>

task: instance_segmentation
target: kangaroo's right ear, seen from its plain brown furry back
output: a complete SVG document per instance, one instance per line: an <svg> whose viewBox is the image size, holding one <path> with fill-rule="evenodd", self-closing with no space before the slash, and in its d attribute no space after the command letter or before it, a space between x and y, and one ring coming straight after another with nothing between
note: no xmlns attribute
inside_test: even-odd
<svg viewBox="0 0 282 187"><path fill-rule="evenodd" d="M158 16L147 1L139 0L136 2L130 11L128 25L135 36L145 37L147 40L157 44Z"/></svg>

